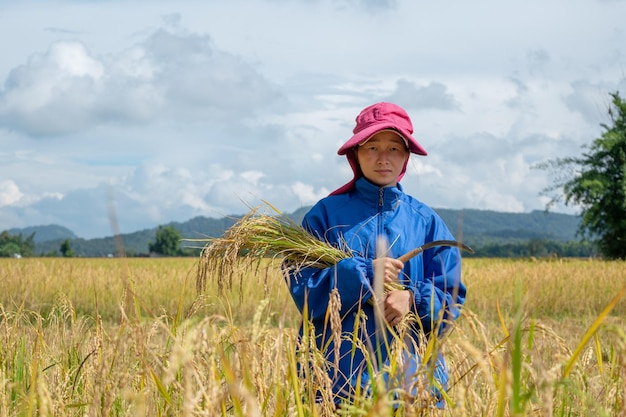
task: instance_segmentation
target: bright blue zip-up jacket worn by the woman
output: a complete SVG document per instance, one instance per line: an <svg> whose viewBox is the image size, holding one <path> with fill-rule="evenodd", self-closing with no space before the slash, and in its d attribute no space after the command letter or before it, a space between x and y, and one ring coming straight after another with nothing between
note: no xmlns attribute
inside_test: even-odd
<svg viewBox="0 0 626 417"><path fill-rule="evenodd" d="M317 347L324 351L330 365L333 392L338 397L350 397L357 385L367 389L371 375L365 358L369 355L378 363L385 363L388 345L384 340L392 340L387 330L382 330L387 333L384 335L377 331L374 309L367 303L374 282L372 261L376 257L377 237L382 235L387 239L389 256L394 258L425 242L454 238L443 220L431 208L405 194L400 184L380 188L365 178L360 178L347 193L320 200L305 215L302 225L318 239L349 248L353 253L352 258L333 267L303 268L289 273L295 304L312 322ZM433 323L440 333L446 322L458 317L465 301L465 286L461 282L461 256L457 248L435 247L423 252L404 264L400 279L415 296L415 313L427 335L432 332ZM338 369L333 368L336 349L330 324L326 322L329 295L334 288L341 298L341 326L346 336L339 347ZM357 320L361 323L357 326L362 327L355 334ZM354 337L360 342L355 344ZM369 354L362 349L369 350ZM441 356L437 362L435 378L445 387L447 369ZM405 369L415 370L418 364L417 354L409 354Z"/></svg>

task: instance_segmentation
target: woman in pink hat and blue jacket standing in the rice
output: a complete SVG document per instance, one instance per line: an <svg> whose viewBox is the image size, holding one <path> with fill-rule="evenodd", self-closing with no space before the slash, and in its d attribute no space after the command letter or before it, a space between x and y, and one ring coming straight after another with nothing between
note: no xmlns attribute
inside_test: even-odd
<svg viewBox="0 0 626 417"><path fill-rule="evenodd" d="M441 355L420 367L417 343L412 342L400 360L394 359L400 364L390 366L393 326L415 317L409 333L417 341L420 334L441 334L458 317L466 292L461 256L457 248L435 247L406 263L397 259L426 242L453 239L441 218L400 185L410 153L426 155L412 136L407 113L392 103L374 104L357 116L353 133L338 154L346 156L354 178L320 200L302 222L318 239L350 250L353 256L326 269L289 271L290 292L305 318L301 336L313 326L335 402L372 392L377 375L382 375L386 389L399 388L396 392L416 398L425 391L419 383L425 367L434 371L434 386L439 388L446 386L447 369ZM379 237L388 242L388 249L377 257ZM369 301L375 274L384 276L386 283L400 284L384 295L380 313ZM338 309L334 327L340 320L341 337L329 323L333 308ZM390 373L399 367L400 377Z"/></svg>

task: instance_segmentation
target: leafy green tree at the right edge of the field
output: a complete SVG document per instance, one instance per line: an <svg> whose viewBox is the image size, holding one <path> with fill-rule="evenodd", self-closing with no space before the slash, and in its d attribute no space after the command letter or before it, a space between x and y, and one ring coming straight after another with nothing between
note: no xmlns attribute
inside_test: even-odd
<svg viewBox="0 0 626 417"><path fill-rule="evenodd" d="M552 170L555 181L544 193L552 196L548 208L562 197L566 205L581 207L579 235L597 244L609 259L626 259L626 101L612 93L612 126L588 152L578 158L550 160L538 167Z"/></svg>

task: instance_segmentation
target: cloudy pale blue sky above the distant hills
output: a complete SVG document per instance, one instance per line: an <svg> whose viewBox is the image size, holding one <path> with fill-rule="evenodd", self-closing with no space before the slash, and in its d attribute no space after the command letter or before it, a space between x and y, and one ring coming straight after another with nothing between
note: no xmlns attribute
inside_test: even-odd
<svg viewBox="0 0 626 417"><path fill-rule="evenodd" d="M626 96L626 0L0 0L0 230L83 238L352 178L361 109L405 108L433 208L545 209ZM552 211L576 214L556 205Z"/></svg>

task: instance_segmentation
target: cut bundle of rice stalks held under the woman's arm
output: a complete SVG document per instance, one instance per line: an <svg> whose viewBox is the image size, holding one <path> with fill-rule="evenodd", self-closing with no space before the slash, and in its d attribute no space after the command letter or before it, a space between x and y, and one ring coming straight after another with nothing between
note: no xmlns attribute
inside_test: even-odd
<svg viewBox="0 0 626 417"><path fill-rule="evenodd" d="M206 288L210 276L217 278L218 291L232 289L236 272L258 269L264 258L286 261L290 268L326 268L352 253L320 241L303 227L264 202L274 215L252 208L219 238L207 241L200 255L196 278L198 292ZM239 274L243 277L243 273Z"/></svg>

